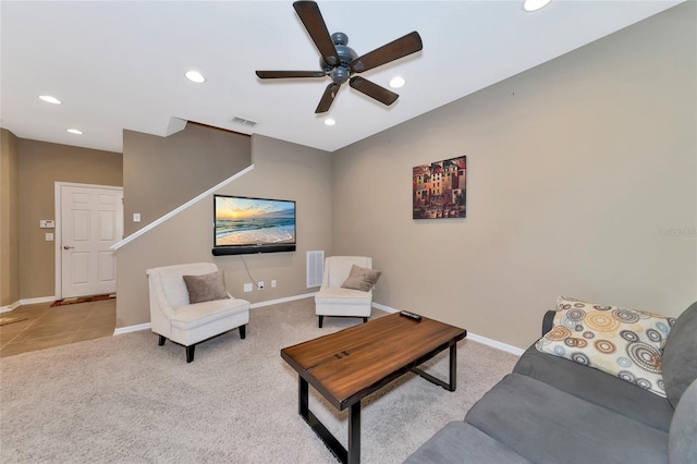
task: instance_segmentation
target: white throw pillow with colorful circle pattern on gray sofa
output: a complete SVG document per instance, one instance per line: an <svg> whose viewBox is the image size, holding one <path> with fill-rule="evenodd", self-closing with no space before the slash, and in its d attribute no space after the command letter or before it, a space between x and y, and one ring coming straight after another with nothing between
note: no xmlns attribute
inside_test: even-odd
<svg viewBox="0 0 697 464"><path fill-rule="evenodd" d="M543 353L572 359L665 396L661 355L675 319L560 296Z"/></svg>

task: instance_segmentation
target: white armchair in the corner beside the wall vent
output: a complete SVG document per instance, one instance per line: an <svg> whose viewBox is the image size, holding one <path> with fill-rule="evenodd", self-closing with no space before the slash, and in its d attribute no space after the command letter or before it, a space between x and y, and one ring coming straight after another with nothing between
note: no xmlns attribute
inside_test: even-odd
<svg viewBox="0 0 697 464"><path fill-rule="evenodd" d="M346 289L342 285L353 266L371 269L372 258L367 256L330 256L325 259L322 284L315 295L315 314L322 327L325 316L362 317L368 321L372 310L372 286L367 291ZM379 272L376 271L379 277ZM377 278L376 278L377 280Z"/></svg>

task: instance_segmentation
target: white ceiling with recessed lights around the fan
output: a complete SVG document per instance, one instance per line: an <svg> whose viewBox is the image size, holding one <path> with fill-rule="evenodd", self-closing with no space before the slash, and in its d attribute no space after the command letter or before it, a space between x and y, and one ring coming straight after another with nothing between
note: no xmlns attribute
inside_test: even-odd
<svg viewBox="0 0 697 464"><path fill-rule="evenodd" d="M254 74L319 70L291 1L2 0L0 125L22 138L122 151L122 130L164 136L180 119L333 151L681 2L554 0L527 13L522 0L320 1L330 34L347 34L358 54L412 30L424 50L362 74L384 87L406 78L391 107L344 84L316 115L328 77ZM191 69L207 82L187 81ZM45 94L63 105L37 98Z"/></svg>

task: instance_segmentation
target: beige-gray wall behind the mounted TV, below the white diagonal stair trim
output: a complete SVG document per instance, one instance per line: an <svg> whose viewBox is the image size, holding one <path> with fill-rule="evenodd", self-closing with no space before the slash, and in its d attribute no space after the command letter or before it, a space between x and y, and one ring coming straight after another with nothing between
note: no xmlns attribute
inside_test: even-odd
<svg viewBox="0 0 697 464"><path fill-rule="evenodd" d="M212 261L225 271L228 290L252 303L303 295L306 252L331 252L331 156L321 150L262 136L252 138L254 170L218 193L297 203L297 251L244 255L262 291L243 293L252 282L241 256L211 255L212 196L204 198L118 251L117 327L150 321L146 269L182 262ZM200 193L200 192L198 192ZM270 281L278 282L271 289Z"/></svg>

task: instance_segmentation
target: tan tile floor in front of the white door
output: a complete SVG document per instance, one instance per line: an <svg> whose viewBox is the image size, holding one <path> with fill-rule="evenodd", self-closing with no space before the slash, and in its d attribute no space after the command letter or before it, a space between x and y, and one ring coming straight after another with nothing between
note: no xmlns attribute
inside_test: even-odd
<svg viewBox="0 0 697 464"><path fill-rule="evenodd" d="M26 318L0 326L0 357L113 335L115 300L50 306L51 303L20 306L0 314Z"/></svg>

